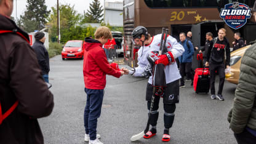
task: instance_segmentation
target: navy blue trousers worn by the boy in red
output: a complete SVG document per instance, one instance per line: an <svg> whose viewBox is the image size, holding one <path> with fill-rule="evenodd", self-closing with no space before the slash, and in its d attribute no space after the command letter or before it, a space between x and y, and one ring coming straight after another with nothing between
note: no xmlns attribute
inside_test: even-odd
<svg viewBox="0 0 256 144"><path fill-rule="evenodd" d="M84 127L86 134L90 135L90 140L96 139L97 118L100 118L102 110L103 89L86 89L87 94L86 108L84 110Z"/></svg>

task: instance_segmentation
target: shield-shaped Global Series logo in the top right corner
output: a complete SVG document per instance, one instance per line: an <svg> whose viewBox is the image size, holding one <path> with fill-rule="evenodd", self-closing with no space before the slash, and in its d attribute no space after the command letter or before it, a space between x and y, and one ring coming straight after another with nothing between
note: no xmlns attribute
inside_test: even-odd
<svg viewBox="0 0 256 144"><path fill-rule="evenodd" d="M220 12L220 17L225 20L226 25L235 30L244 26L247 18L250 18L251 10L246 4L233 2L225 5L225 9Z"/></svg>

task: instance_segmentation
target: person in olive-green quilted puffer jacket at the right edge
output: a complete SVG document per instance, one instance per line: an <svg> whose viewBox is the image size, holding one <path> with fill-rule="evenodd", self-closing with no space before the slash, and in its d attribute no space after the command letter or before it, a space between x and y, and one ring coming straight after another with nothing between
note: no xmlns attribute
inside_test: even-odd
<svg viewBox="0 0 256 144"><path fill-rule="evenodd" d="M228 114L230 128L239 144L256 143L256 44L250 46L241 61L240 77L233 108Z"/></svg>

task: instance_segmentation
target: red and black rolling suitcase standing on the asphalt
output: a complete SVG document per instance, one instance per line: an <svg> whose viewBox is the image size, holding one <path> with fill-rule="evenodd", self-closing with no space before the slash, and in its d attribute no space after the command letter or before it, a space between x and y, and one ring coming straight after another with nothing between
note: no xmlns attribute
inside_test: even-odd
<svg viewBox="0 0 256 144"><path fill-rule="evenodd" d="M210 89L209 68L197 68L194 74L194 91L198 93L208 93Z"/></svg>

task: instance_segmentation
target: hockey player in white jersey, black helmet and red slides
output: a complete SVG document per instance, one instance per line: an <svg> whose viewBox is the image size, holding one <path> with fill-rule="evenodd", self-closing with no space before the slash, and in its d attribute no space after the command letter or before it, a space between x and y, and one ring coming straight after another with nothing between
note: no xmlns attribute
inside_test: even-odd
<svg viewBox="0 0 256 144"><path fill-rule="evenodd" d="M140 50L138 50L138 67L132 68L130 70L122 69L125 74L129 73L132 76L145 76L145 70L148 65L147 57L149 54L158 55L161 36L162 34L158 34L156 36L151 37L148 34L148 31L143 26L137 26L134 31L132 31L132 36L135 44L142 46ZM166 74L166 84L167 87L164 90L163 103L164 103L164 135L162 136L162 141L168 142L170 140L169 129L172 127L174 122L174 111L175 111L175 103L178 103L179 100L179 82L178 80L181 78L180 73L177 68L177 64L175 62L175 58L182 55L184 49L182 45L180 45L175 38L172 36L167 36L166 47L168 52L166 54L162 54L159 56L159 59L156 60L156 64L162 63L166 67L164 68L164 72ZM146 86L146 101L148 101L148 110L150 112L151 105L151 97L153 94L153 86L152 86L152 76L150 76L148 80L148 84ZM159 108L159 96L154 98L153 110L151 111L151 119L150 125L151 130L146 132L144 138L151 138L156 135L156 123L158 121L158 108Z"/></svg>

